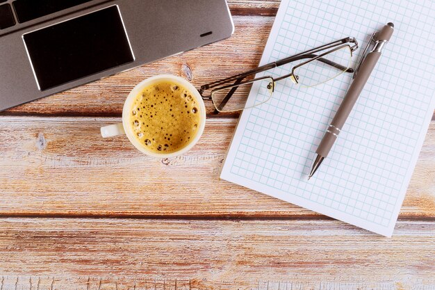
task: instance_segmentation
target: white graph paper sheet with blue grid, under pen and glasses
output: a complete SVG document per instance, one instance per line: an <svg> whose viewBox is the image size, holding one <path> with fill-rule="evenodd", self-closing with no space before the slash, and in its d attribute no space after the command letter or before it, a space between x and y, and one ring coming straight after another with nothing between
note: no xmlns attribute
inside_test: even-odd
<svg viewBox="0 0 435 290"><path fill-rule="evenodd" d="M261 65L347 36L365 47L387 22L395 31L315 177L306 180L351 74L314 88L278 82L240 116L221 178L391 236L435 108L434 11L434 1L283 0Z"/></svg>

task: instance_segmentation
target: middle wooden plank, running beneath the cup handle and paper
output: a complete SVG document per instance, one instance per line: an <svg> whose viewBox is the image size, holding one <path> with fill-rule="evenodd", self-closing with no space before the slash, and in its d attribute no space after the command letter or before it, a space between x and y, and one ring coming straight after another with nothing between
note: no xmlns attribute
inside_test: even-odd
<svg viewBox="0 0 435 290"><path fill-rule="evenodd" d="M171 159L140 154L99 127L120 118L0 117L0 215L325 218L219 179L236 121L207 120L193 150ZM435 218L435 122L401 219Z"/></svg>

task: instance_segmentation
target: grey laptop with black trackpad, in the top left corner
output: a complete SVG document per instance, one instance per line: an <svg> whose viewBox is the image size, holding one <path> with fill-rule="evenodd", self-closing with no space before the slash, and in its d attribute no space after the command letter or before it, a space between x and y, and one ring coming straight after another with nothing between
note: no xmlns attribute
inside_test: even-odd
<svg viewBox="0 0 435 290"><path fill-rule="evenodd" d="M0 0L0 111L233 31L225 0Z"/></svg>

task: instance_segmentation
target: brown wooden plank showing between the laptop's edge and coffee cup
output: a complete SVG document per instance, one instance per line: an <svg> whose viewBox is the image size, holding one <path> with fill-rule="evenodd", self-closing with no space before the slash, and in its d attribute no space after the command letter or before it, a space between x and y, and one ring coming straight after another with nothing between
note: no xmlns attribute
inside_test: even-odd
<svg viewBox="0 0 435 290"><path fill-rule="evenodd" d="M0 115L119 116L130 90L149 76L176 74L199 88L256 67L273 20L274 17L236 16L236 32L227 40L10 108ZM206 107L208 113L213 112L211 102L207 101Z"/></svg>

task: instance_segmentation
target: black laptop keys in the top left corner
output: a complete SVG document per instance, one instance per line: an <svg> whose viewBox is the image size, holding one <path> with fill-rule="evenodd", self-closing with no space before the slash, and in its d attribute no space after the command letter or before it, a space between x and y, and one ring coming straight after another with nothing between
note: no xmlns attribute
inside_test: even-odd
<svg viewBox="0 0 435 290"><path fill-rule="evenodd" d="M6 1L0 0L0 3ZM89 1L92 0L15 0L13 9L9 3L0 4L0 30L16 24L13 11L18 23L24 23Z"/></svg>

